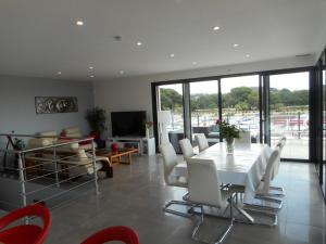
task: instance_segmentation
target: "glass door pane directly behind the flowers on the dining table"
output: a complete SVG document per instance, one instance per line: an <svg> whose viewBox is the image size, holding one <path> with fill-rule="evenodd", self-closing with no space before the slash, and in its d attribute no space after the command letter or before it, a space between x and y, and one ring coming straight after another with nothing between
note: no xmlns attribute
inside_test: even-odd
<svg viewBox="0 0 326 244"><path fill-rule="evenodd" d="M260 137L259 76L221 79L222 117L251 133L251 142Z"/></svg>

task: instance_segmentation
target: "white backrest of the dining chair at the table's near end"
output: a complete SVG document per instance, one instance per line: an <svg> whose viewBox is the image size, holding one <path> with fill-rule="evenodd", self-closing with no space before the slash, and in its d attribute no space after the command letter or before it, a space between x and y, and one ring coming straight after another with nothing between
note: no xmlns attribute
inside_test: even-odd
<svg viewBox="0 0 326 244"><path fill-rule="evenodd" d="M223 202L214 160L188 158L189 201L221 207Z"/></svg>

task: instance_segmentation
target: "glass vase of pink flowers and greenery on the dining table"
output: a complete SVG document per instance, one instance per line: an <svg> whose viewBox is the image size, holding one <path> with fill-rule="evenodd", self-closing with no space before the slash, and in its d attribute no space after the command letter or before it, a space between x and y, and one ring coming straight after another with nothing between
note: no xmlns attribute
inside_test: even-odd
<svg viewBox="0 0 326 244"><path fill-rule="evenodd" d="M231 154L234 152L235 138L240 137L241 129L221 119L216 120L216 126L220 127L220 137L225 138L227 153Z"/></svg>

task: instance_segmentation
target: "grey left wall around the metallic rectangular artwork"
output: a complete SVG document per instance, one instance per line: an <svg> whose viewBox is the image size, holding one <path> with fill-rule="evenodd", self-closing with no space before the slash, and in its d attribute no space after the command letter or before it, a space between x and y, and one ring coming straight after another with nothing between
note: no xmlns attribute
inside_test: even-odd
<svg viewBox="0 0 326 244"><path fill-rule="evenodd" d="M35 97L77 97L78 112L36 114ZM0 76L0 133L61 132L70 126L78 126L86 133L89 131L84 116L92 106L91 82Z"/></svg>

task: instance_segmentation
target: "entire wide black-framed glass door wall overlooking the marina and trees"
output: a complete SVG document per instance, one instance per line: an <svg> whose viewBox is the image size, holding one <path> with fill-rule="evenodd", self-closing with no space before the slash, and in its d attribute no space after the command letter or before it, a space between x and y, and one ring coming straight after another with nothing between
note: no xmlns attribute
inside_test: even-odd
<svg viewBox="0 0 326 244"><path fill-rule="evenodd" d="M252 143L264 142L274 146L280 137L286 136L283 158L311 159L310 141L313 138L310 134L315 131L310 125L312 73L310 69L297 70L153 84L158 111L171 111L170 141L178 153L178 140L184 137L193 140L196 133L204 133L211 144L220 142L215 123L222 118L249 130ZM324 125L325 117L324 112Z"/></svg>

